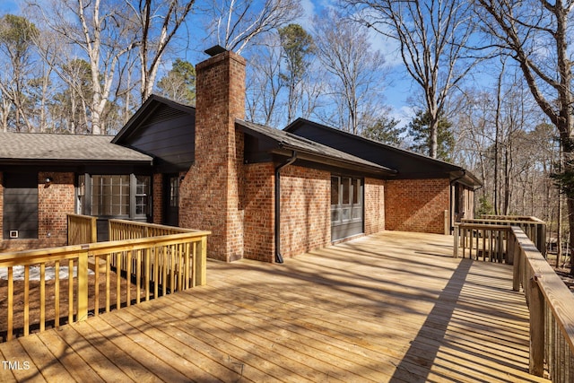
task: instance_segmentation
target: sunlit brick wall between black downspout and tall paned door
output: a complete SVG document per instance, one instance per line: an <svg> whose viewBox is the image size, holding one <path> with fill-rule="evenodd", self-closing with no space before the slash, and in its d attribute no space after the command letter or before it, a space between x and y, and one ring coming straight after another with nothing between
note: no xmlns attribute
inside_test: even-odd
<svg viewBox="0 0 574 383"><path fill-rule="evenodd" d="M294 257L331 243L331 173L281 170L281 254Z"/></svg>

